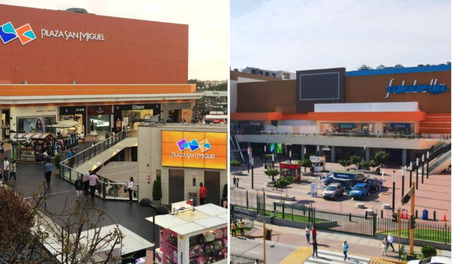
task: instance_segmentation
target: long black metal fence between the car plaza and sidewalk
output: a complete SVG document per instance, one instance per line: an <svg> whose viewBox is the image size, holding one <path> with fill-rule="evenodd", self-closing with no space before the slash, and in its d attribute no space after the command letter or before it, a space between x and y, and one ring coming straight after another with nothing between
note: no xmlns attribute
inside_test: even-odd
<svg viewBox="0 0 452 264"><path fill-rule="evenodd" d="M267 202L263 191L231 190L231 205L234 210L247 210L260 215L273 216L280 220L310 223L317 229L375 236L376 233L398 235L398 223L377 217L375 212L367 214L320 210L297 203ZM237 212L236 212L237 213ZM237 214L240 214L238 212ZM326 224L322 224L326 223ZM402 236L409 237L410 223L401 220ZM415 239L451 244L451 227L447 224L417 222Z"/></svg>

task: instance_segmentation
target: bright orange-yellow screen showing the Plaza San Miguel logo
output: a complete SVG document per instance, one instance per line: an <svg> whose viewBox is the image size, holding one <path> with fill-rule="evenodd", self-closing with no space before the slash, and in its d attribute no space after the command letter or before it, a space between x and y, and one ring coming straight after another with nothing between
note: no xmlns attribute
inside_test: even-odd
<svg viewBox="0 0 452 264"><path fill-rule="evenodd" d="M226 169L227 133L162 131L162 166Z"/></svg>

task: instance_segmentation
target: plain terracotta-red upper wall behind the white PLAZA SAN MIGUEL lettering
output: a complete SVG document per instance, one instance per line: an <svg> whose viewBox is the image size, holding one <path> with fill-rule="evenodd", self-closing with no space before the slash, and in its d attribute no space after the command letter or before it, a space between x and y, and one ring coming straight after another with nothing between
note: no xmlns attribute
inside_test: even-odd
<svg viewBox="0 0 452 264"><path fill-rule="evenodd" d="M19 34L0 41L1 83L187 82L188 25L7 5L0 18Z"/></svg>

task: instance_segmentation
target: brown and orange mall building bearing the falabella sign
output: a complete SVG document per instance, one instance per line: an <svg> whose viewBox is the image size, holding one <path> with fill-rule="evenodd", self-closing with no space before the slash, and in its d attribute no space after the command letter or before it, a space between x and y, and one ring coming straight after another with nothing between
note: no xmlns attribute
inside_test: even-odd
<svg viewBox="0 0 452 264"><path fill-rule="evenodd" d="M251 78L231 72L231 121L232 142L254 153L280 143L293 157L315 153L337 162L352 153L369 160L384 149L389 163L405 165L451 136L450 63Z"/></svg>

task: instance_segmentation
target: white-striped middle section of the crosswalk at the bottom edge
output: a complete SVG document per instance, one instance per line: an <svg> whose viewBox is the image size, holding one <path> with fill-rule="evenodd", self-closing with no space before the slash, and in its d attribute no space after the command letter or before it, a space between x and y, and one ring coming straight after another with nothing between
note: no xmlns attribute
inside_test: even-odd
<svg viewBox="0 0 452 264"><path fill-rule="evenodd" d="M363 256L347 255L347 260L344 260L343 253L338 251L326 251L319 249L317 252L319 257L313 258L310 256L304 261L304 264L329 264L329 263L355 263L355 264L369 264L371 258Z"/></svg>

